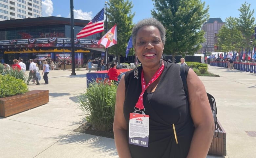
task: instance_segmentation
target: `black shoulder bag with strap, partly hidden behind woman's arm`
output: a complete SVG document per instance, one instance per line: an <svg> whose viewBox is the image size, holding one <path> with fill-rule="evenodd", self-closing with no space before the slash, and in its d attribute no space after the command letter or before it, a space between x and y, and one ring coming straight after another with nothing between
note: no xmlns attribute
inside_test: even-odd
<svg viewBox="0 0 256 158"><path fill-rule="evenodd" d="M180 75L181 75L184 91L185 91L185 93L187 95L187 98L188 98L187 79L186 79L186 73L185 73L184 65L180 66L180 73L181 73ZM214 120L214 124L215 124L215 127L216 127L216 123L217 123L217 107L216 107L216 102L215 102L214 97L211 94L207 93L207 97L208 97L208 100L209 100L209 103L210 103L210 106L211 106L213 120ZM217 130L217 131L218 131L217 132L217 137L218 137L219 130Z"/></svg>

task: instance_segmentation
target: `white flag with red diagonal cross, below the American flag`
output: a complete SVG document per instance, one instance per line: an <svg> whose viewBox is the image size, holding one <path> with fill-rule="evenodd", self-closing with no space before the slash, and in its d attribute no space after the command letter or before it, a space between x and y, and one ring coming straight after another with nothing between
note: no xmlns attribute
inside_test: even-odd
<svg viewBox="0 0 256 158"><path fill-rule="evenodd" d="M102 44L105 48L117 44L117 24L113 26L97 43Z"/></svg>

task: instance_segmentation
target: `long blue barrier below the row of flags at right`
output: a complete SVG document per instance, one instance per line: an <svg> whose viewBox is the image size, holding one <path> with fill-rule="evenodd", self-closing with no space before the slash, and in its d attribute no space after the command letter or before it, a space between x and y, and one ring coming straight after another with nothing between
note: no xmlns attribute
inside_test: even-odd
<svg viewBox="0 0 256 158"><path fill-rule="evenodd" d="M227 68L227 62L212 61L210 62L210 65ZM256 73L256 63L233 62L233 66L234 66L234 69L237 69L240 71Z"/></svg>

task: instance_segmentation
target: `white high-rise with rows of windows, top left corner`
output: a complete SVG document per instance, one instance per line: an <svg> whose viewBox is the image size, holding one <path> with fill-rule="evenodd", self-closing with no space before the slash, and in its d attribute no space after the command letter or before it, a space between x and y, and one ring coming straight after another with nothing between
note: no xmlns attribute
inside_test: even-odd
<svg viewBox="0 0 256 158"><path fill-rule="evenodd" d="M42 17L42 0L0 0L0 21Z"/></svg>

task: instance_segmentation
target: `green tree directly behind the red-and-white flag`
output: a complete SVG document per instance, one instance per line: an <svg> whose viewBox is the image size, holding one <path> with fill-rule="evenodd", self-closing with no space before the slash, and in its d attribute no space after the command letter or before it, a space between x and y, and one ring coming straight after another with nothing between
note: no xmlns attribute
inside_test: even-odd
<svg viewBox="0 0 256 158"><path fill-rule="evenodd" d="M129 0L109 0L107 10L108 29L117 24L117 46L108 48L109 54L125 55L127 43L132 34L133 17L132 2ZM116 53L117 47L117 53Z"/></svg>

